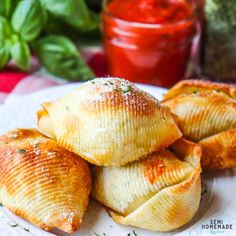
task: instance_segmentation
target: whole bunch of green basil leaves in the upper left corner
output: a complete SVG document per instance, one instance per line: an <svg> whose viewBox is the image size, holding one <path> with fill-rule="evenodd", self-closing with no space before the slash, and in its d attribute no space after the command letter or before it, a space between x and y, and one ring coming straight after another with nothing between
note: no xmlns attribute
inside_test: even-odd
<svg viewBox="0 0 236 236"><path fill-rule="evenodd" d="M94 74L73 42L53 35L55 26L60 34L71 30L68 36L76 35L77 40L78 33L97 28L98 16L85 0L0 0L0 69L12 59L27 71L33 49L49 73L69 80L91 79Z"/></svg>

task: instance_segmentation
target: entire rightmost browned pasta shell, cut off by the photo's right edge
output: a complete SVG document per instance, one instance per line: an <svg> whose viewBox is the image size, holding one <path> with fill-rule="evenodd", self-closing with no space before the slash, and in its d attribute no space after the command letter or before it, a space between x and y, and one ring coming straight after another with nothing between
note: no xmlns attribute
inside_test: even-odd
<svg viewBox="0 0 236 236"><path fill-rule="evenodd" d="M162 104L177 115L183 136L202 146L202 166L236 166L236 86L209 81L182 81Z"/></svg>

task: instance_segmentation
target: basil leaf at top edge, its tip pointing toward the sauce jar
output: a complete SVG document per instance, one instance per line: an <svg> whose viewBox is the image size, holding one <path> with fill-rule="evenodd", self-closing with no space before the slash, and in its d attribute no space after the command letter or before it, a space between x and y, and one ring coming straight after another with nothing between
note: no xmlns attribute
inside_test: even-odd
<svg viewBox="0 0 236 236"><path fill-rule="evenodd" d="M78 30L88 31L97 26L84 0L40 0L53 15Z"/></svg>

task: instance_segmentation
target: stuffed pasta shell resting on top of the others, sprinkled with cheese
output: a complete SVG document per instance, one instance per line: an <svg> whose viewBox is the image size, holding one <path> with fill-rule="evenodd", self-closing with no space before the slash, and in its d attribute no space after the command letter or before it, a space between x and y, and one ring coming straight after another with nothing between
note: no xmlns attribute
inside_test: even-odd
<svg viewBox="0 0 236 236"><path fill-rule="evenodd" d="M169 108L129 81L99 78L44 103L38 127L90 163L121 166L181 137Z"/></svg>

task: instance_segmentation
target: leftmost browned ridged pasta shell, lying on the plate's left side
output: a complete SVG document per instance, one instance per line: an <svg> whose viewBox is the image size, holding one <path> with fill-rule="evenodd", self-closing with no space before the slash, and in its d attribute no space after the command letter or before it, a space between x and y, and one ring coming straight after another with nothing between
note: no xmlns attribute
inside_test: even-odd
<svg viewBox="0 0 236 236"><path fill-rule="evenodd" d="M0 201L44 230L76 231L91 188L87 163L34 129L0 137Z"/></svg>

